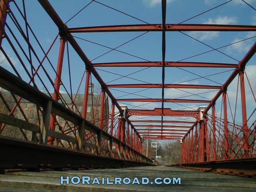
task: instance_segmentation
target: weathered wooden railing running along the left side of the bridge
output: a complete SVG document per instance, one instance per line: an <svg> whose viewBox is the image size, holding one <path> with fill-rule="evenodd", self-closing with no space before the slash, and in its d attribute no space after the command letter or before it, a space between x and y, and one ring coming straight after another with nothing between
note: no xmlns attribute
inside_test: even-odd
<svg viewBox="0 0 256 192"><path fill-rule="evenodd" d="M21 129L32 131L33 134L39 134L38 144L48 145L47 138L48 136L52 136L54 138L59 138L61 140L66 140L68 142L74 143L76 145L77 152L83 152L83 146L88 146L90 148L94 148L96 150L96 154L98 156L102 155L102 151L107 152L107 156L112 159L121 159L128 160L140 163L151 164L152 161L148 159L146 156L140 154L138 151L134 150L126 143L121 142L114 136L108 134L104 130L98 128L94 124L88 122L86 119L82 118L75 112L69 110L62 104L53 100L46 94L40 92L38 89L24 82L14 74L8 72L4 68L0 67L0 87L8 90L12 94L16 94L40 107L42 107L42 120L41 125L38 126L36 124L32 124L30 122L26 122L24 120L20 120L13 116L9 116L6 114L0 114L0 123L8 124L11 126L15 126ZM66 134L62 134L60 132L56 132L55 130L49 129L49 122L51 114L56 114L65 120L68 120L74 125L78 126L78 134L76 137L68 136ZM90 143L84 141L84 131L88 130L94 134L96 134L96 142ZM108 147L101 146L101 141L105 139L109 142ZM36 142L36 140L32 140L31 142ZM113 146L117 146L117 150L112 150ZM50 146L50 145L48 145ZM51 145L52 146L52 145ZM73 149L74 150L74 149ZM88 153L88 152L84 152ZM117 158L114 158L116 154Z"/></svg>

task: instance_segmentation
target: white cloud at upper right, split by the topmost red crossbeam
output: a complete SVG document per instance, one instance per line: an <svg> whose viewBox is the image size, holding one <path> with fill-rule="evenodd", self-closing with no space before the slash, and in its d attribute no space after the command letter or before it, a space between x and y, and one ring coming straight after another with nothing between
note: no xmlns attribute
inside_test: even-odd
<svg viewBox="0 0 256 192"><path fill-rule="evenodd" d="M227 17L227 16L218 16L217 18L209 18L203 24L235 24L237 19L235 17ZM201 41L203 40L212 40L219 36L219 31L204 31L204 32L190 32L190 35L194 38L197 38Z"/></svg>

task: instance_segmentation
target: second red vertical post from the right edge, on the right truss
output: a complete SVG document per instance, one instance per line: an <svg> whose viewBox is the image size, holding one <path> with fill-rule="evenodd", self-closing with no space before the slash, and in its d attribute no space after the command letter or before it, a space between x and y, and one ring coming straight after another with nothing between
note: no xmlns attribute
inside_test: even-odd
<svg viewBox="0 0 256 192"><path fill-rule="evenodd" d="M224 158L229 159L228 155L228 115L227 115L227 99L226 99L226 91L223 92L222 94L223 97L223 105L224 105L224 149L225 149L225 154Z"/></svg>

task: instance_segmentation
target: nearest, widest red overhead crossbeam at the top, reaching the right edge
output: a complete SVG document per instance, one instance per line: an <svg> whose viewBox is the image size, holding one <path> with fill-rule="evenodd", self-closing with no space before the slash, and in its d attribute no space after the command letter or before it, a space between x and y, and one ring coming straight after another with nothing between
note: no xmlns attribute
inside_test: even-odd
<svg viewBox="0 0 256 192"><path fill-rule="evenodd" d="M112 25L69 28L70 33L84 32L136 32L136 31L255 31L250 25L216 25L216 24L139 24Z"/></svg>

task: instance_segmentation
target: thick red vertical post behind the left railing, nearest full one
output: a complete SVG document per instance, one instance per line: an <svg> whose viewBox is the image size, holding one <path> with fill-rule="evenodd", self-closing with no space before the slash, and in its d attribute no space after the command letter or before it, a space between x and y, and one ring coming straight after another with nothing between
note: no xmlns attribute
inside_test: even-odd
<svg viewBox="0 0 256 192"><path fill-rule="evenodd" d="M63 57L64 57L64 50L65 50L65 44L66 39L60 38L60 49L59 49L59 55L58 55L58 63L57 63L57 71L56 71L56 77L54 82L54 92L52 95L52 98L56 101L58 101L59 98L59 91L60 91L60 81L61 81L61 74L62 74L62 64L63 64ZM50 129L55 130L55 119L56 114L53 114L50 118ZM48 137L48 144L53 144L53 138Z"/></svg>

